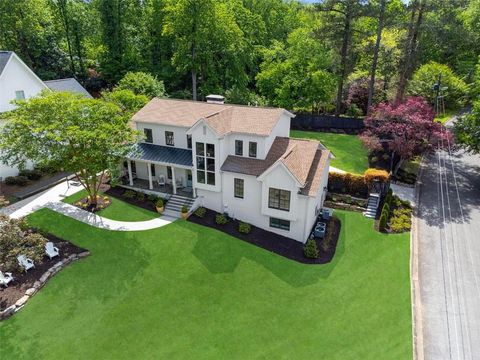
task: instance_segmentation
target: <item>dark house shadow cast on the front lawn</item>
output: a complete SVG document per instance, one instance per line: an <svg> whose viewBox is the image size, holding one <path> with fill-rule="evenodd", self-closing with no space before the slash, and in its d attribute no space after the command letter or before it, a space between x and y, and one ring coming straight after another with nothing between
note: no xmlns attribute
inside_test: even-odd
<svg viewBox="0 0 480 360"><path fill-rule="evenodd" d="M178 223L179 226L185 224ZM192 253L212 274L232 273L245 258L268 269L290 286L303 287L329 277L345 252L343 231L342 226L335 256L328 264L301 264L233 236L210 237L200 232L196 233L197 241Z"/></svg>

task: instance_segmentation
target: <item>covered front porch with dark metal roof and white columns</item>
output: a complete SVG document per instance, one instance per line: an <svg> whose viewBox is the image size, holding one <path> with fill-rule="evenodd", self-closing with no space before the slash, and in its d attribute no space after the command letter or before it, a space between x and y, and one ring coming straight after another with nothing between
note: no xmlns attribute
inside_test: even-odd
<svg viewBox="0 0 480 360"><path fill-rule="evenodd" d="M196 197L192 151L139 143L124 163L123 186L152 193Z"/></svg>

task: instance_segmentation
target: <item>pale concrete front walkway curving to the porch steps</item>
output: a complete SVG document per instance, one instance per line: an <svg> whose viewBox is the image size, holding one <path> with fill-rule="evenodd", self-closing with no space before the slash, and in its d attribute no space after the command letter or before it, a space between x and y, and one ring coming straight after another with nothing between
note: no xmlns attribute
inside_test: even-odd
<svg viewBox="0 0 480 360"><path fill-rule="evenodd" d="M62 200L83 190L82 186L74 186L75 182L63 182L41 194L19 201L13 205L0 209L0 214L9 215L12 218L21 218L37 210L48 208L75 220L91 226L116 231L143 231L156 229L177 220L175 217L162 216L148 221L116 221L92 214L75 206L66 204Z"/></svg>

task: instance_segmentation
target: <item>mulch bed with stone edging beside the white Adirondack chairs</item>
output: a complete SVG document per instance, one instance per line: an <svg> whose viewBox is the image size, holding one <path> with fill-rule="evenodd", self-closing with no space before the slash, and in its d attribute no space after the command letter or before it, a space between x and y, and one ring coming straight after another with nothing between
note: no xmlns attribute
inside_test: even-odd
<svg viewBox="0 0 480 360"><path fill-rule="evenodd" d="M31 269L26 273L19 271L13 272L15 280L11 282L7 288L0 287L0 310L4 310L15 304L18 299L25 295L25 291L31 288L35 281L39 280L40 277L57 262L72 254L80 254L87 251L54 235L48 234L45 235L45 237L58 247L60 255L51 260L48 256L45 256L41 263L35 262L35 269Z"/></svg>

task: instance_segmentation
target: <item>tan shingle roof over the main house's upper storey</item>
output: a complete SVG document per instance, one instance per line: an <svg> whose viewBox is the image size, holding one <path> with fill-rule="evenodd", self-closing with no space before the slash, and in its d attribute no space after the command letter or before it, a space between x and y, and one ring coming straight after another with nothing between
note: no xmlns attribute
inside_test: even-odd
<svg viewBox="0 0 480 360"><path fill-rule="evenodd" d="M138 111L133 120L192 127L198 120L205 119L219 135L237 132L267 136L284 112L278 108L155 98Z"/></svg>

